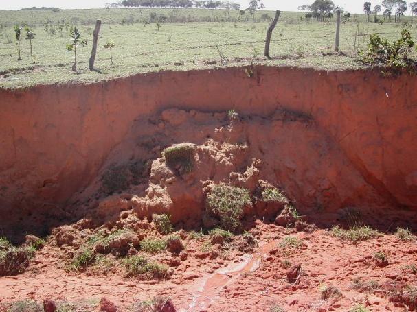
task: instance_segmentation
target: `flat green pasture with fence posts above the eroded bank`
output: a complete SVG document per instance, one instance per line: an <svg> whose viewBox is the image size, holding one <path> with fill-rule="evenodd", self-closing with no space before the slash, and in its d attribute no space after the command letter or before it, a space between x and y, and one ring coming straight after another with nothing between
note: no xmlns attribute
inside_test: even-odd
<svg viewBox="0 0 417 312"><path fill-rule="evenodd" d="M166 20L157 23L155 14ZM335 19L326 22L300 19L302 12L282 12L273 32L270 54L263 57L264 39L269 21L256 13L201 9L95 9L95 10L21 10L0 11L0 87L20 88L35 84L95 82L134 73L166 69L188 70L239 64L271 64L319 69L353 69L354 51L366 49L372 33L394 40L407 27L417 40L417 24L403 17L401 23L367 23L364 15L352 15L341 25L341 52L333 53ZM174 17L172 17L174 16ZM381 17L381 16L380 16ZM95 68L89 71L88 60L95 19L102 19ZM178 22L183 19L183 22ZM170 20L175 21L170 23ZM229 21L230 20L230 21ZM45 27L45 21L47 27ZM60 21L61 29L58 27ZM146 21L146 23L144 22ZM408 21L407 23L404 23ZM150 22L150 23L148 23ZM30 40L22 29L21 58L16 60L14 25L30 25L36 36ZM74 53L67 52L69 25L77 25L86 47L78 47L78 73L71 71ZM53 29L53 30L51 30ZM103 45L113 40L113 64L109 49ZM355 45L356 42L356 45ZM354 47L357 49L354 49Z"/></svg>

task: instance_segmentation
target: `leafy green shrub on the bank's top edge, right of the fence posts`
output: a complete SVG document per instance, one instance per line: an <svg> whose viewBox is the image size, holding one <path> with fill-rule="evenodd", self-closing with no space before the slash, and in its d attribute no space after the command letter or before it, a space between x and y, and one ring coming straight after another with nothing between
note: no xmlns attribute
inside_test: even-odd
<svg viewBox="0 0 417 312"><path fill-rule="evenodd" d="M409 58L414 41L412 35L407 29L401 31L401 38L389 43L379 34L370 36L370 43L367 51L361 52L361 62L365 64L379 64L390 68L409 67L412 60Z"/></svg>

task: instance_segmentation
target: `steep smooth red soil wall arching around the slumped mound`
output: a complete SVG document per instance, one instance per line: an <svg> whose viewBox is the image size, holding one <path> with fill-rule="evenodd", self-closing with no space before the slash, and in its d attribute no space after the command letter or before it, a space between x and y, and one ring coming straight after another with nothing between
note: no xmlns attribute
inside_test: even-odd
<svg viewBox="0 0 417 312"><path fill-rule="evenodd" d="M416 76L282 67L247 73L168 71L1 90L0 230L36 219L36 211L59 213L94 180L135 121L166 108L266 118L284 108L311 116L381 197L417 206ZM300 146L294 158L303 152Z"/></svg>

